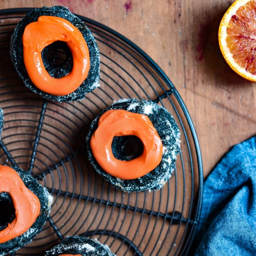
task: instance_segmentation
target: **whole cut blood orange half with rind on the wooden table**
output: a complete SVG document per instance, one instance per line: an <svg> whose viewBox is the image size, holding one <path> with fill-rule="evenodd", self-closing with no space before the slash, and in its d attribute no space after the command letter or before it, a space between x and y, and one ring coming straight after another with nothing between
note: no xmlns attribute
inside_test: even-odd
<svg viewBox="0 0 256 256"><path fill-rule="evenodd" d="M219 45L229 66L256 81L256 0L236 0L224 14Z"/></svg>

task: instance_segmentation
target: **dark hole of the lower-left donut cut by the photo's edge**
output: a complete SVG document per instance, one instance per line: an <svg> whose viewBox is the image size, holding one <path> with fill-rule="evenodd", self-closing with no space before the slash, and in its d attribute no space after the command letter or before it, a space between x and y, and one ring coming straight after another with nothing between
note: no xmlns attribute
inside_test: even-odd
<svg viewBox="0 0 256 256"><path fill-rule="evenodd" d="M3 230L15 218L15 209L11 196L6 193L0 193L0 230Z"/></svg>

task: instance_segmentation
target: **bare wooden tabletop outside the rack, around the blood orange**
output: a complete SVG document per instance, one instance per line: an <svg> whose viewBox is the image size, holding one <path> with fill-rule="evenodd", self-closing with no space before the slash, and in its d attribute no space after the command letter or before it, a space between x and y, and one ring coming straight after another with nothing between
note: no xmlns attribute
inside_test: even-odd
<svg viewBox="0 0 256 256"><path fill-rule="evenodd" d="M256 133L256 85L234 73L218 47L231 0L1 0L0 8L63 5L128 37L159 64L185 102L204 176Z"/></svg>

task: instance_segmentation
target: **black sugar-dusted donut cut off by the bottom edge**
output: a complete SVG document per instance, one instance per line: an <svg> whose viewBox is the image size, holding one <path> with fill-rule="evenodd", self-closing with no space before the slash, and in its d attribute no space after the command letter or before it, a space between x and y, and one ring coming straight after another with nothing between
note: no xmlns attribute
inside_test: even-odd
<svg viewBox="0 0 256 256"><path fill-rule="evenodd" d="M107 245L83 236L70 236L46 252L45 256L81 254L82 256L114 256Z"/></svg>

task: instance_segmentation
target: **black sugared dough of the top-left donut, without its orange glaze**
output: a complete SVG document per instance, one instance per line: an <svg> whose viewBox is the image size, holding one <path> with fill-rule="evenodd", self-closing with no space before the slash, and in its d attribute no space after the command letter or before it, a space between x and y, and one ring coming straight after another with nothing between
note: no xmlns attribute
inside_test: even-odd
<svg viewBox="0 0 256 256"><path fill-rule="evenodd" d="M22 35L25 27L34 21L37 21L38 18L42 15L46 16L56 16L61 17L69 22L71 22L75 27L77 27L89 49L90 55L90 70L87 78L83 83L77 88L74 92L64 95L56 96L52 94L45 93L39 88L34 86L33 82L30 80L27 70L23 61L23 45L22 45ZM52 63L49 61L48 53L49 51L55 51L56 49L61 48L66 53L67 57L63 63ZM47 98L51 101L67 102L81 100L84 98L85 94L91 92L95 88L99 87L99 77L100 77L100 53L97 46L97 43L94 40L94 37L88 27L80 20L77 16L71 13L66 7L54 6L54 7L41 7L36 8L33 11L27 13L25 17L20 20L17 27L14 29L13 35L11 37L11 47L10 54L13 65L19 74L21 80L25 83L27 88L29 88L35 94L39 94L41 97ZM41 53L42 60L47 72L54 78L61 78L68 74L73 67L73 58L72 53L67 47L66 43L61 41L56 41L53 44L45 47Z"/></svg>

